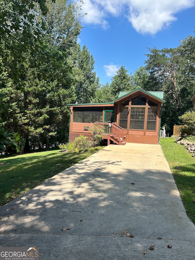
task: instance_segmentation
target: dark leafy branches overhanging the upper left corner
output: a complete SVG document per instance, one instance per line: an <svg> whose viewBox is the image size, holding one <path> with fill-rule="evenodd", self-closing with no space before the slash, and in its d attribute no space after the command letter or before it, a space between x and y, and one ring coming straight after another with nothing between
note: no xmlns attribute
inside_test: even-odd
<svg viewBox="0 0 195 260"><path fill-rule="evenodd" d="M21 72L18 64L25 62L25 54L30 53L36 59L38 52L44 52L45 49L41 38L41 28L44 24L35 23L35 16L31 12L35 3L39 5L42 13L48 11L46 0L0 0L1 58L4 67L9 67L9 77L17 87L22 86L22 81L18 78L18 73Z"/></svg>

